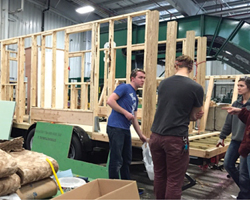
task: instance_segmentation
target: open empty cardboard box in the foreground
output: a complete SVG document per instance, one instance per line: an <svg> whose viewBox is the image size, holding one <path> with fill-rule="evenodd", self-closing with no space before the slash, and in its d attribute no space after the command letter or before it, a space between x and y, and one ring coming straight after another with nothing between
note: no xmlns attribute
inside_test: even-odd
<svg viewBox="0 0 250 200"><path fill-rule="evenodd" d="M140 199L136 181L96 179L53 199Z"/></svg>

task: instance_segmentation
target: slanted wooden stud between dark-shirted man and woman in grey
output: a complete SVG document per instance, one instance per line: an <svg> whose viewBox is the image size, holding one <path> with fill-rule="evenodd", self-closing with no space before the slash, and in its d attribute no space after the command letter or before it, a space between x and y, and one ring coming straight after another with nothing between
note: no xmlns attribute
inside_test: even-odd
<svg viewBox="0 0 250 200"><path fill-rule="evenodd" d="M204 104L204 115L202 117L204 119L201 120L201 123L200 123L200 132L203 132L203 133L205 132L205 127L206 127L206 123L207 123L207 116L208 116L209 104L211 101L213 87L214 87L214 77L210 76L210 80L209 80L209 84L208 84L208 88L207 88L206 100L205 100L205 104Z"/></svg>

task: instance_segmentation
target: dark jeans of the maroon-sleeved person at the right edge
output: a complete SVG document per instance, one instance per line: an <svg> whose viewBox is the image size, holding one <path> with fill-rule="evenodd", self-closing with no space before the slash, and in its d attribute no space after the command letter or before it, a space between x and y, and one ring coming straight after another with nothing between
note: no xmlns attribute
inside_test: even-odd
<svg viewBox="0 0 250 200"><path fill-rule="evenodd" d="M240 176L239 176L239 185L240 192L237 199L250 199L250 177L247 166L247 159L240 156Z"/></svg>

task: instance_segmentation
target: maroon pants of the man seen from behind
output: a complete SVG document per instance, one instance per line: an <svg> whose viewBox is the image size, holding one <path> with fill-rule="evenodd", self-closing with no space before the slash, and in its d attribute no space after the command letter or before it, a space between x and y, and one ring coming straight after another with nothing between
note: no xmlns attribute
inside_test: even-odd
<svg viewBox="0 0 250 200"><path fill-rule="evenodd" d="M181 199L182 185L189 163L182 137L152 133L149 146L154 163L156 199Z"/></svg>

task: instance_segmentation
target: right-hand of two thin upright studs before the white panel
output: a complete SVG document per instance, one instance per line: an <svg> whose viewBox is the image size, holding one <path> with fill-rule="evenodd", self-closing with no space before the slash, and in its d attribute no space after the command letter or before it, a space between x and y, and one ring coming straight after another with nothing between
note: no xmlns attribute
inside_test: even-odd
<svg viewBox="0 0 250 200"><path fill-rule="evenodd" d="M56 107L56 46L57 32L52 34L52 87L51 87L51 108Z"/></svg>

